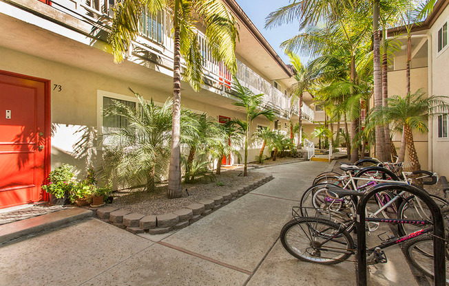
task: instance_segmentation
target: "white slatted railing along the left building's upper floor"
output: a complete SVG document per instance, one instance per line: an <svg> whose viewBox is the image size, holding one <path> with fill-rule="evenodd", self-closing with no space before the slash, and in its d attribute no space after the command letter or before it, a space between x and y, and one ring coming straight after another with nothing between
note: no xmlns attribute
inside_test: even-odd
<svg viewBox="0 0 449 286"><path fill-rule="evenodd" d="M91 23L97 30L99 28L106 32L110 31L108 19L112 16L111 7L114 5L112 0L92 0L88 2L84 0L54 0L51 2L53 8L71 14L84 22ZM140 49L147 50L148 54L154 53L155 51L155 49L149 48L149 45L153 48L163 46L165 52L161 56L167 60L171 58L171 61L173 61L172 27L168 13L167 11L163 11L157 16L152 16L144 11L139 25L141 37L137 40L138 43L136 43L136 46ZM204 58L206 76L213 80L216 85L221 86L223 90L225 90L225 87L232 89L233 78L231 74L223 63L215 61L212 58L207 47L207 42L205 41L205 35L200 31L198 31L198 43L200 45L200 52ZM277 110L282 117L288 118L292 111L297 114L296 104L293 104L293 109L291 109L290 98L240 61L237 62L236 78L241 85L249 88L255 94L264 94L264 104L267 107ZM306 119L313 120L313 112L311 112L310 107L306 104L303 104L302 112Z"/></svg>

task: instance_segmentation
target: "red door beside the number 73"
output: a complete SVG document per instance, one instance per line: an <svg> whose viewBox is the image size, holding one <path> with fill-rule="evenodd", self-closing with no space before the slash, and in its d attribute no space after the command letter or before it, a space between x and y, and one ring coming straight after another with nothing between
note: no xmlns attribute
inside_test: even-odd
<svg viewBox="0 0 449 286"><path fill-rule="evenodd" d="M50 81L0 71L0 208L48 199Z"/></svg>

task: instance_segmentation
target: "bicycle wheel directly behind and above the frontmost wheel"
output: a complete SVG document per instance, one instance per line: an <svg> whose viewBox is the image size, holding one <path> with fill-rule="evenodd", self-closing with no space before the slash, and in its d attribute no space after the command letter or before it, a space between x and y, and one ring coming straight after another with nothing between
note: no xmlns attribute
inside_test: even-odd
<svg viewBox="0 0 449 286"><path fill-rule="evenodd" d="M332 199L326 194L326 184L311 186L300 201L302 217L320 217L334 223L351 223L355 215L355 203L351 199ZM353 230L354 225L348 229Z"/></svg>

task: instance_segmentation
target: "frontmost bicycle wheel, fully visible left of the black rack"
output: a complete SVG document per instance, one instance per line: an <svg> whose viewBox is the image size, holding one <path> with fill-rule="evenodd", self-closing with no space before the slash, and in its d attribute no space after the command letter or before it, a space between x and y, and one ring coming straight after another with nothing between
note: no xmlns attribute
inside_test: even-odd
<svg viewBox="0 0 449 286"><path fill-rule="evenodd" d="M289 221L280 232L280 241L297 259L320 264L340 263L354 251L354 241L342 225L317 217Z"/></svg>

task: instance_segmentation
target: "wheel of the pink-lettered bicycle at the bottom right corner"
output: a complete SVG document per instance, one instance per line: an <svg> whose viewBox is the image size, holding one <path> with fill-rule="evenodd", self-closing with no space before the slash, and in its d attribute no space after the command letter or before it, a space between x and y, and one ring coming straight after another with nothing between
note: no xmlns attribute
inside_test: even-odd
<svg viewBox="0 0 449 286"><path fill-rule="evenodd" d="M406 259L426 276L434 277L433 236L424 234L410 239L403 245ZM446 285L449 284L448 245L446 243Z"/></svg>

